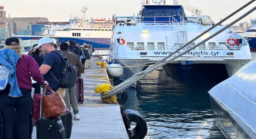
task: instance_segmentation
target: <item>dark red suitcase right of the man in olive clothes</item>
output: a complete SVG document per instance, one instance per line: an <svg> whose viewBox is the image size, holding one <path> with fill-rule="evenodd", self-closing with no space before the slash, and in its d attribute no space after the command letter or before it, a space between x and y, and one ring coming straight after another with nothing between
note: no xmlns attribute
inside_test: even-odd
<svg viewBox="0 0 256 139"><path fill-rule="evenodd" d="M80 77L76 79L76 99L77 102L84 103L84 81Z"/></svg>

